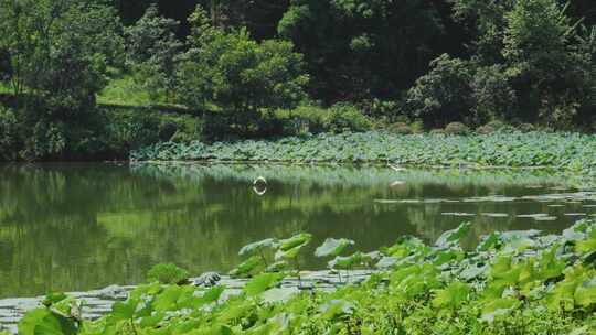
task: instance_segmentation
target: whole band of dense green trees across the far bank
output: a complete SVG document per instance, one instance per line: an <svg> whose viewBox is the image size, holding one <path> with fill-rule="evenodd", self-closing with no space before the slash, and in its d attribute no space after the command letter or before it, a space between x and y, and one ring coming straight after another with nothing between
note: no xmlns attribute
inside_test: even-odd
<svg viewBox="0 0 596 335"><path fill-rule="evenodd" d="M102 95L171 105L212 139L403 121L590 129L595 24L589 0L0 0L0 132L17 133L17 156L105 149L98 125L118 127Z"/></svg>

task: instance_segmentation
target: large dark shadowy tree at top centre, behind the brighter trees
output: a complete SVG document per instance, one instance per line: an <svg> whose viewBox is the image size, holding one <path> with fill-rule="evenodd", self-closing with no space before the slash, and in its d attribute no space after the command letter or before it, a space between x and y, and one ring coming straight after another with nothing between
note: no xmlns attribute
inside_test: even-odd
<svg viewBox="0 0 596 335"><path fill-rule="evenodd" d="M443 24L422 0L295 0L280 36L305 54L316 98L394 98L437 56Z"/></svg>

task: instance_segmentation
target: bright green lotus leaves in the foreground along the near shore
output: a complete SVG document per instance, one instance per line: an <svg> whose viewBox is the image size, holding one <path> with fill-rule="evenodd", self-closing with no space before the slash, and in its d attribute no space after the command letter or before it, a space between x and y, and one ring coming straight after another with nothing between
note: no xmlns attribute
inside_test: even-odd
<svg viewBox="0 0 596 335"><path fill-rule="evenodd" d="M332 291L279 288L296 275L309 234L242 249L233 273L252 278L238 294L225 288L153 282L138 287L110 314L81 317L84 304L50 295L20 334L596 334L596 225L561 235L492 233L460 247L470 224L434 246L414 237L379 251L330 238L317 248L338 275L375 268L360 284ZM172 272L172 269L168 269ZM180 272L180 271L173 271ZM155 273L153 273L155 274ZM178 280L178 279L177 279Z"/></svg>

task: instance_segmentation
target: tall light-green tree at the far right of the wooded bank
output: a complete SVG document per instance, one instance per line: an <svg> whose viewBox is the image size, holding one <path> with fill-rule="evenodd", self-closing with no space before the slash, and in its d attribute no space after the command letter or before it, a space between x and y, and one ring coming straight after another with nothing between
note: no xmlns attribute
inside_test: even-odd
<svg viewBox="0 0 596 335"><path fill-rule="evenodd" d="M503 57L524 102L525 120L568 125L593 93L593 55L578 40L578 21L556 0L518 1L505 15Z"/></svg>

